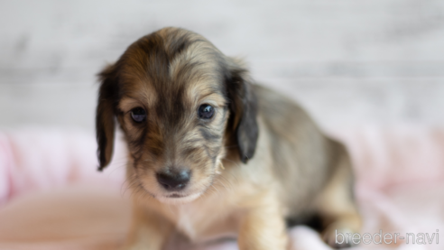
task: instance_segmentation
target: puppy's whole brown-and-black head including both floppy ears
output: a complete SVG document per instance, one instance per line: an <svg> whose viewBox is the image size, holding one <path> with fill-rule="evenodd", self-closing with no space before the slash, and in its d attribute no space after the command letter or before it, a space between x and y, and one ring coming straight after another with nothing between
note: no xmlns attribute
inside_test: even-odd
<svg viewBox="0 0 444 250"><path fill-rule="evenodd" d="M253 157L256 103L247 72L196 33L153 32L101 73L99 170L113 153L115 121L128 144L134 188L162 202L198 198L227 150Z"/></svg>

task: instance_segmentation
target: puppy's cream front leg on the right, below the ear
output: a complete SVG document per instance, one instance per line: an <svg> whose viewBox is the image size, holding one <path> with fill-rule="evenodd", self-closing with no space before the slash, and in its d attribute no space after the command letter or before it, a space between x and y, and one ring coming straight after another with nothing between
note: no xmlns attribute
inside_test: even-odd
<svg viewBox="0 0 444 250"><path fill-rule="evenodd" d="M261 200L245 213L238 237L239 250L285 250L288 236L279 202L273 197ZM253 206L252 206L253 207Z"/></svg>

